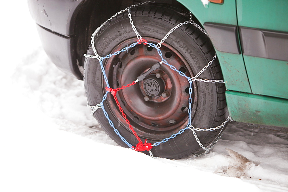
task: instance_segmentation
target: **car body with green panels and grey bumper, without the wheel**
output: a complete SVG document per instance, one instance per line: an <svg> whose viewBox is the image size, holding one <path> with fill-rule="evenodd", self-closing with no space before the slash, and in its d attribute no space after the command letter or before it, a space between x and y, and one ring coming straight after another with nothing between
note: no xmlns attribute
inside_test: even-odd
<svg viewBox="0 0 288 192"><path fill-rule="evenodd" d="M135 3L27 1L46 53L60 69L78 79L83 78L79 67L92 32L120 11L121 3L130 3L124 7ZM232 119L288 130L288 0L224 0L205 6L201 0L160 1L180 9L185 6L208 32L225 80ZM44 4L47 13L54 13L49 18L43 14Z"/></svg>

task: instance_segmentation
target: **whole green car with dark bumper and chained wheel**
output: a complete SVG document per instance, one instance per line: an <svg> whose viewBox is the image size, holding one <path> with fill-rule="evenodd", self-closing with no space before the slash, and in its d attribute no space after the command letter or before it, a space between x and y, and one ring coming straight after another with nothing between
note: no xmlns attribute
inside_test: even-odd
<svg viewBox="0 0 288 192"><path fill-rule="evenodd" d="M231 120L288 133L288 1L28 5L47 55L84 80L92 115L123 147L199 156Z"/></svg>

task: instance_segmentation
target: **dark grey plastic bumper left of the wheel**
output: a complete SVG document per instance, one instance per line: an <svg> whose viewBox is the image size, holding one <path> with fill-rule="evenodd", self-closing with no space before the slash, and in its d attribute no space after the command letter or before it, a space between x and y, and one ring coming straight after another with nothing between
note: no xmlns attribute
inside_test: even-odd
<svg viewBox="0 0 288 192"><path fill-rule="evenodd" d="M78 68L73 34L77 13L85 1L28 0L47 55L58 68L77 79L83 77Z"/></svg>

